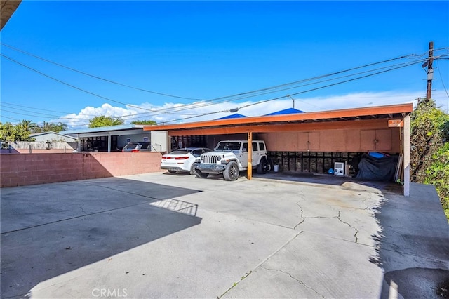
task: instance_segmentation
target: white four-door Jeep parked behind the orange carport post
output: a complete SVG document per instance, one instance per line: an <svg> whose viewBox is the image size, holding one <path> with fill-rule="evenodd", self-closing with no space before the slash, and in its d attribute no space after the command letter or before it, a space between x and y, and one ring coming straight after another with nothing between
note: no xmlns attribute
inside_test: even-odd
<svg viewBox="0 0 449 299"><path fill-rule="evenodd" d="M253 140L253 169L257 173L267 173L270 165L267 147L262 140ZM218 142L213 152L201 154L194 164L197 178L207 178L209 173L223 173L225 180L236 180L240 171L248 168L248 141L225 140Z"/></svg>

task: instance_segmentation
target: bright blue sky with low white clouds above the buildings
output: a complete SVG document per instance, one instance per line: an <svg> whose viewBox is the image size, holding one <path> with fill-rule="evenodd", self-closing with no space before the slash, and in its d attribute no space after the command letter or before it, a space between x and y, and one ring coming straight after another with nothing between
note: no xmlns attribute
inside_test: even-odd
<svg viewBox="0 0 449 299"><path fill-rule="evenodd" d="M447 110L448 1L25 0L1 31L1 121L201 121L286 109L287 95L306 112L416 102L429 41Z"/></svg>

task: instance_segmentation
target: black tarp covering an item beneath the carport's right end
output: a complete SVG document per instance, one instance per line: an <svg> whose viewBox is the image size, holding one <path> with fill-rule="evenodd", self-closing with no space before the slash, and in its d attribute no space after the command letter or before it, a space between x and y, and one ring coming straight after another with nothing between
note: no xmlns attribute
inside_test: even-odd
<svg viewBox="0 0 449 299"><path fill-rule="evenodd" d="M393 182L397 163L397 155L375 158L369 154L363 154L358 163L356 179Z"/></svg>

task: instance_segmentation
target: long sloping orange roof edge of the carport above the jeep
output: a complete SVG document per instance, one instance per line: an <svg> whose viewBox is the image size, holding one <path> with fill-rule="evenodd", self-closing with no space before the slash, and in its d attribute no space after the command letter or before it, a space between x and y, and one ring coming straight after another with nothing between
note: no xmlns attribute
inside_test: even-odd
<svg viewBox="0 0 449 299"><path fill-rule="evenodd" d="M413 111L413 104L387 105L339 109L321 112L304 112L295 114L265 115L262 117L242 117L237 119L215 119L212 121L197 121L186 124L168 124L160 126L145 126L144 131L187 131L192 129L217 129L239 126L267 126L282 124L316 124L335 121L356 121L368 119L403 119Z"/></svg>

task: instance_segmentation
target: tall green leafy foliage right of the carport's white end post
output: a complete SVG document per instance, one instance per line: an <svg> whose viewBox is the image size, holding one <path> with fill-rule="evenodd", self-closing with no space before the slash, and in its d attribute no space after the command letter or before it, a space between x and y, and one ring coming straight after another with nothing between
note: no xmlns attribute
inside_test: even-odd
<svg viewBox="0 0 449 299"><path fill-rule="evenodd" d="M436 187L449 219L449 114L438 109L434 100L418 102L411 129L411 179Z"/></svg>

